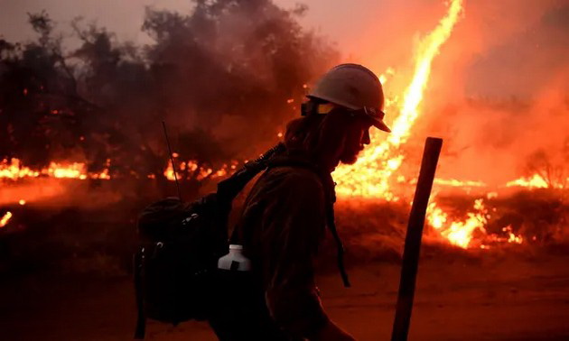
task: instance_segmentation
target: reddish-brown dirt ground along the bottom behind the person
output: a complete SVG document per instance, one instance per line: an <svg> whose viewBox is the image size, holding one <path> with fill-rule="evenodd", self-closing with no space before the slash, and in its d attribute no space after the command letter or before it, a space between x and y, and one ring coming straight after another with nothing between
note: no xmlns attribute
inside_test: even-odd
<svg viewBox="0 0 569 341"><path fill-rule="evenodd" d="M410 340L569 340L569 255L439 254L422 260ZM359 340L391 333L399 265L350 269L352 288L319 276L331 318ZM127 276L12 276L0 283L2 340L128 340L135 300ZM203 323L150 323L149 340L215 340Z"/></svg>

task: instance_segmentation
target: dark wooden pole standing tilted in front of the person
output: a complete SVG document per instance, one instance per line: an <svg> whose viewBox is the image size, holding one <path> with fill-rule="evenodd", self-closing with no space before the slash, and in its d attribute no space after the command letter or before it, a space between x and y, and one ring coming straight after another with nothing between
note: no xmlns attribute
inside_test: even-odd
<svg viewBox="0 0 569 341"><path fill-rule="evenodd" d="M415 189L415 198L407 224L405 249L403 251L403 265L401 267L401 280L399 281L399 295L397 297L396 317L393 323L392 341L406 341L411 323L411 311L415 296L415 282L421 251L421 238L423 236L424 217L433 188L434 171L439 161L443 139L427 137L424 144L423 161L419 180Z"/></svg>

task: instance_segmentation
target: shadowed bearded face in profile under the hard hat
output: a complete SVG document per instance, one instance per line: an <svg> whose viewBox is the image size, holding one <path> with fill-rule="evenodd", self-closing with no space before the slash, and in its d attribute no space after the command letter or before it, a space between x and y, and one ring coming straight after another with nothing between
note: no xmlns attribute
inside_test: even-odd
<svg viewBox="0 0 569 341"><path fill-rule="evenodd" d="M352 117L346 126L346 135L340 153L340 161L353 164L358 161L358 154L369 144L369 128L371 121L364 117Z"/></svg>

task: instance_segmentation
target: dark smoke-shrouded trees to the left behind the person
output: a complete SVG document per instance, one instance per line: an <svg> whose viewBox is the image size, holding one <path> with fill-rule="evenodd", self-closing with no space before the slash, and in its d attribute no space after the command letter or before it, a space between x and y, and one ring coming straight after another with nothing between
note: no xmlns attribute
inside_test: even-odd
<svg viewBox="0 0 569 341"><path fill-rule="evenodd" d="M62 27L30 14L35 40L0 40L0 159L41 168L79 158L113 179L164 180L163 120L195 172L255 156L336 57L297 22L304 11L270 0L147 8L144 46L80 18ZM79 47L65 45L69 31Z"/></svg>

